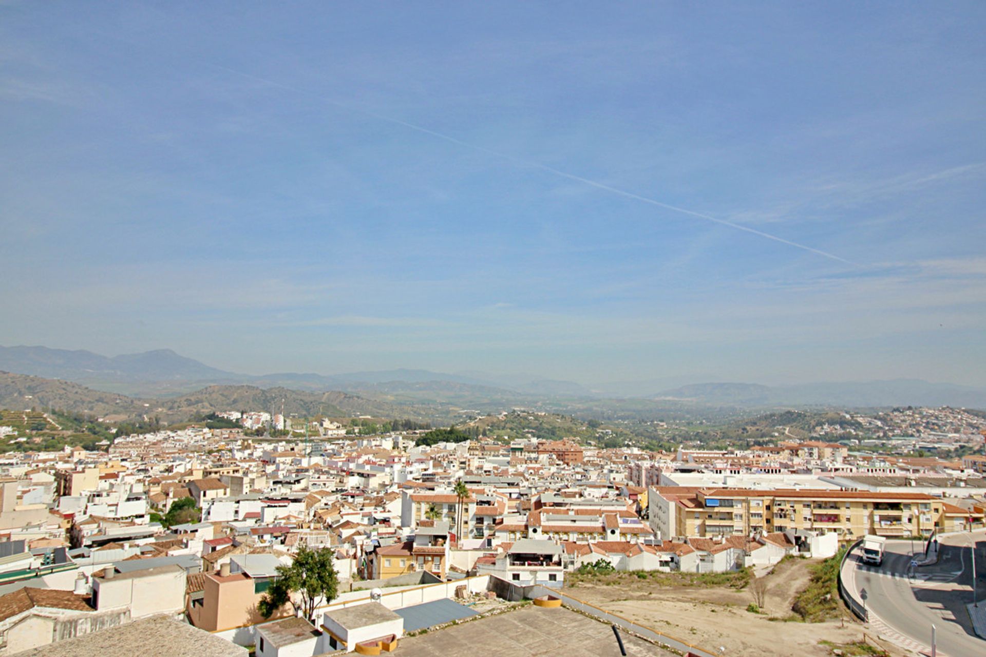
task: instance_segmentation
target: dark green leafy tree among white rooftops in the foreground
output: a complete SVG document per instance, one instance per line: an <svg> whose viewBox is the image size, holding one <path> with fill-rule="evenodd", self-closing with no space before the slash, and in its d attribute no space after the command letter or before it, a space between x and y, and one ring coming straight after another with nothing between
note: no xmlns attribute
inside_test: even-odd
<svg viewBox="0 0 986 657"><path fill-rule="evenodd" d="M277 579L257 603L257 611L265 619L291 603L296 611L313 621L315 608L322 602L331 602L338 595L339 577L332 565L332 550L310 550L303 547L295 555L291 565L277 568ZM297 598L292 597L292 593ZM300 604L296 602L300 599ZM313 621L314 622L314 621Z"/></svg>

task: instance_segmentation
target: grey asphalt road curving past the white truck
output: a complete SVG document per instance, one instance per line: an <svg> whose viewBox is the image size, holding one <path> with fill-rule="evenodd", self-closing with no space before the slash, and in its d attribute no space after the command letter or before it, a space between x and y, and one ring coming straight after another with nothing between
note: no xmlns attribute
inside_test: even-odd
<svg viewBox="0 0 986 657"><path fill-rule="evenodd" d="M921 543L916 542L915 547L920 551ZM942 545L941 550L937 564L916 568L913 577L908 576L910 541L888 541L879 568L860 562L847 567L854 570L856 591L867 591L867 608L884 624L925 646L931 645L931 626L935 624L940 654L982 657L986 655L986 640L972 631L965 610L972 602L971 549ZM982 554L980 547L977 557ZM982 602L986 599L986 563L979 559L976 569L982 605L986 604Z"/></svg>

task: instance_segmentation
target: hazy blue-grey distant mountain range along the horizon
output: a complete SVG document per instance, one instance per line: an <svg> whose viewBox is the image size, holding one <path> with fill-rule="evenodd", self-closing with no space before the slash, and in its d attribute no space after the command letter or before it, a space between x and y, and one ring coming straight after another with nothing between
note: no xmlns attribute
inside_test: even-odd
<svg viewBox="0 0 986 657"><path fill-rule="evenodd" d="M579 406L614 398L741 409L908 405L986 408L986 389L916 379L766 386L755 383L698 383L694 378L689 381L682 377L665 377L599 384L590 388L572 381L544 379L531 374L450 374L426 369L387 369L329 375L281 372L257 376L211 367L179 356L170 349L106 357L87 351L47 347L0 347L0 370L64 379L92 388L93 392L159 400L170 397L184 400L183 403L189 401L191 393L213 386L213 394L218 389L236 387L271 392L277 389L310 393L335 391L349 393L366 402L373 400L392 405L394 411L415 407L421 411L424 406L434 405L448 406L449 410L454 407L492 411L515 406L534 407L548 402L555 408L563 408L566 404ZM702 378L708 380L711 377L703 375ZM299 403L308 404L311 401L306 397ZM263 400L257 399L256 402L260 404ZM146 400L141 403L146 403Z"/></svg>

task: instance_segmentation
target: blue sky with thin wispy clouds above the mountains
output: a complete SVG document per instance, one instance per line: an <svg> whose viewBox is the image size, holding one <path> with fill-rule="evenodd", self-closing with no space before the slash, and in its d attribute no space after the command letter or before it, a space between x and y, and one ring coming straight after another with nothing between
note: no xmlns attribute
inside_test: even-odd
<svg viewBox="0 0 986 657"><path fill-rule="evenodd" d="M0 344L986 384L984 30L978 2L0 2Z"/></svg>

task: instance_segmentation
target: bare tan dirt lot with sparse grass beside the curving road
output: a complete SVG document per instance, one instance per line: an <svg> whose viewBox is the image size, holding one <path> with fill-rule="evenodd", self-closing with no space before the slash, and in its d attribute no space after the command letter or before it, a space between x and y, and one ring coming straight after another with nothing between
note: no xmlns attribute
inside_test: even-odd
<svg viewBox="0 0 986 657"><path fill-rule="evenodd" d="M701 646L710 652L725 648L724 654L741 657L760 655L831 655L830 647L819 645L827 640L843 644L858 641L863 626L847 613L840 621L800 623L770 621L769 618L792 616L791 605L799 591L809 582L810 563L806 559L788 560L766 574L767 590L763 613L746 611L754 602L751 586L736 588L741 581L726 585L681 586L669 577L638 578L635 573L614 573L575 577L565 592L600 609L630 621L653 627L672 636ZM891 650L891 654L896 654Z"/></svg>

